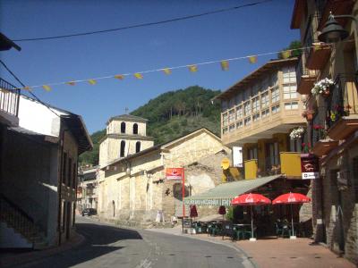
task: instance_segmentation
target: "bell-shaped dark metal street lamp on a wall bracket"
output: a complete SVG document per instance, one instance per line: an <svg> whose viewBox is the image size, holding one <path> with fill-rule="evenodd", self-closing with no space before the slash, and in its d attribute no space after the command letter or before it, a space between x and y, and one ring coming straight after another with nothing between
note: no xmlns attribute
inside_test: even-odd
<svg viewBox="0 0 358 268"><path fill-rule="evenodd" d="M348 18L354 21L355 29L358 34L358 21L352 15L338 15L334 16L332 13L328 17L322 32L319 35L319 40L324 43L337 43L340 40L344 40L349 36L349 32L335 20L335 18Z"/></svg>

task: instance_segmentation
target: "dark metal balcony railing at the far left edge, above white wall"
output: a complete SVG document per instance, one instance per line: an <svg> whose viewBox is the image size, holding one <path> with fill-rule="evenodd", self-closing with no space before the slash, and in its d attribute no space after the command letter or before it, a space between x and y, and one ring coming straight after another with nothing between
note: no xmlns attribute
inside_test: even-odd
<svg viewBox="0 0 358 268"><path fill-rule="evenodd" d="M0 79L0 112L18 116L20 89Z"/></svg>

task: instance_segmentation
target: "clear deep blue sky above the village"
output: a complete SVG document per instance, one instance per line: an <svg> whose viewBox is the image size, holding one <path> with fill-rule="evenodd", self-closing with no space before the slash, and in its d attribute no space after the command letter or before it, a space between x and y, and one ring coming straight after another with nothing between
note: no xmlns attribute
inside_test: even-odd
<svg viewBox="0 0 358 268"><path fill-rule="evenodd" d="M205 13L257 0L131 0L131 1L0 1L0 31L12 39L38 38L132 24L163 21ZM250 54L274 52L299 38L290 29L294 1L266 4L175 21L138 29L47 41L18 42L21 52L1 52L0 57L29 86L66 80L147 71ZM167 91L199 85L226 90L237 80L276 55L261 56L256 64L247 60L230 63L221 71L218 63L186 69L171 75L153 72L143 80L98 80L57 86L34 93L50 105L81 114L90 133L102 130L109 117L129 112ZM0 75L20 86L4 69Z"/></svg>

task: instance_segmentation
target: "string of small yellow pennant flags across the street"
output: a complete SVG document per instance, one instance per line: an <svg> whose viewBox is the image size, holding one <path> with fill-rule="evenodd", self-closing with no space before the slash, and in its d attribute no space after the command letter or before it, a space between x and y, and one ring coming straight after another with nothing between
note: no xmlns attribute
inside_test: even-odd
<svg viewBox="0 0 358 268"><path fill-rule="evenodd" d="M351 40L348 40L348 41L351 41ZM348 42L348 41L344 41L344 42ZM325 46L331 46L331 45L325 44ZM98 83L98 80L106 80L106 79L114 79L114 78L117 80L124 80L124 78L126 76L133 76L135 79L142 80L143 74L145 74L145 73L160 71L166 75L169 75L169 74L172 74L172 71L178 70L178 69L183 69L183 68L187 68L191 72L197 72L199 66L212 64L212 63L219 63L222 71L228 71L229 70L229 62L247 59L249 61L249 63L254 64L254 63L258 62L258 57L266 56L266 55L270 55L270 54L280 54L283 59L287 59L292 55L292 53L294 51L297 51L297 50L304 51L306 49L311 49L311 48L314 50L317 50L317 49L320 49L321 46L313 45L313 46L306 46L306 47L301 47L301 48L288 49L285 51L268 52L268 53L262 53L262 54L251 54L251 55L234 57L234 58L225 59L225 60L210 61L210 62L205 62L205 63L195 63L195 64L189 64L189 65L175 66L175 67L166 67L166 68L160 68L160 69L149 70L149 71L137 71L137 72L132 72L132 73L115 74L115 75L110 75L110 76L91 78L91 79L87 79L87 80L70 80L70 81L64 81L64 82L58 82L58 83L47 83L47 84L38 85L38 86L27 86L27 87L20 88L20 89L25 89L25 90L30 91L30 90L33 90L34 88L44 88L46 91L51 91L52 87L54 87L54 86L60 86L60 85L75 86L82 82L87 82L90 85L96 85Z"/></svg>

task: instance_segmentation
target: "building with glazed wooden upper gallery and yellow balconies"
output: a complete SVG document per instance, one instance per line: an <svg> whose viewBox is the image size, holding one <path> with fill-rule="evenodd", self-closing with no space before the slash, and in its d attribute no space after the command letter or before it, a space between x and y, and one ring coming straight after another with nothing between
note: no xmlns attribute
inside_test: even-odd
<svg viewBox="0 0 358 268"><path fill-rule="evenodd" d="M302 140L289 138L305 122L296 63L296 58L270 61L216 96L223 144L243 147L245 179L277 173L301 179Z"/></svg>

